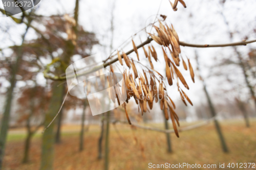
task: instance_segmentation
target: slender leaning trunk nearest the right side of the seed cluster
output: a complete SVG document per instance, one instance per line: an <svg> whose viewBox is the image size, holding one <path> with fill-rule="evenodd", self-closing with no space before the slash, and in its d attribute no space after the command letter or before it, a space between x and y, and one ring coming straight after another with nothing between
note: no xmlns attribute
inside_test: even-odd
<svg viewBox="0 0 256 170"><path fill-rule="evenodd" d="M199 76L200 76L200 79L203 82L204 92L205 92L207 102L208 102L208 105L209 105L209 108L210 108L210 113L211 113L211 116L214 117L214 116L216 116L216 111L215 111L214 105L211 102L211 99L210 99L209 93L207 91L204 79L200 75L200 65L199 65L197 53L196 53L196 60L197 60L197 65L198 65L198 70L199 70ZM228 152L227 144L225 142L224 136L223 136L222 131L221 131L221 127L220 127L219 122L218 122L217 119L214 120L214 124L215 124L216 130L217 130L217 133L219 135L219 138L221 140L222 150L223 150L223 152Z"/></svg>

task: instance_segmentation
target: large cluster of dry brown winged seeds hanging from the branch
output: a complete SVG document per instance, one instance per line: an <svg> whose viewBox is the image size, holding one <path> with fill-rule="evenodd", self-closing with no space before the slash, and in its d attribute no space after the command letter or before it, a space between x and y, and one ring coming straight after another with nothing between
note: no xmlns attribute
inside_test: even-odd
<svg viewBox="0 0 256 170"><path fill-rule="evenodd" d="M168 27L167 25L163 25L161 21L159 20L159 27L154 26L157 34L150 34L153 40L155 40L158 44L162 46L163 51L163 57L165 60L165 66L166 66L166 78L168 80L168 84L171 86L173 85L173 80L177 79L177 86L178 91L180 92L181 99L186 105L186 101L193 105L185 92L181 89L179 86L178 79L180 79L181 83L185 86L185 88L188 88L188 85L182 76L180 70L178 67L180 66L180 58L182 59L183 67L185 70L187 70L187 65L184 59L181 57L181 49L179 44L179 37L175 29L173 28L173 25L171 27ZM136 61L138 64L141 64L139 62L139 53L138 49L132 40L134 52L137 55L138 61ZM148 62L151 65L150 67L147 67L143 64L142 71L143 74L139 74L137 71L135 60L127 56L125 53L122 53L122 55L117 51L118 60L121 65L123 65L122 57L124 59L124 62L129 69L124 69L123 72L123 78L125 80L125 86L126 86L126 95L127 100L126 103L129 102L129 100L134 97L136 104L138 105L138 110L141 111L142 115L144 112L148 110L147 107L150 109L153 108L154 101L157 103L160 101L160 108L163 110L165 118L166 119L172 119L174 130L177 136L178 130L176 124L179 126L179 118L177 114L175 113L174 109L175 104L170 99L170 97L167 94L166 86L164 84L164 77L154 69L154 65L152 63L152 57L155 61L158 61L158 55L155 50L155 47L153 45L148 45L148 51L144 46L142 46L145 57L148 59ZM169 56L169 57L168 57ZM191 67L191 64L188 60L188 68L190 71L191 79L194 80L194 71ZM111 66L111 72L114 72L113 67ZM132 74L133 72L133 74ZM122 92L125 88L122 88ZM125 103L123 104L123 107L125 109L126 117L128 122L131 124L129 115L127 114ZM169 113L169 114L168 114Z"/></svg>

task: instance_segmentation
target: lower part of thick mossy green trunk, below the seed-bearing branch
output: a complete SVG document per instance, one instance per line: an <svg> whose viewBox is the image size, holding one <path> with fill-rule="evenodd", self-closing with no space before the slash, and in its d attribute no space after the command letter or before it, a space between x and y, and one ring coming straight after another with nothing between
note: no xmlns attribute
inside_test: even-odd
<svg viewBox="0 0 256 170"><path fill-rule="evenodd" d="M51 123L57 114L62 101L63 85L58 87L59 81L53 82L53 94L49 109L46 113L45 128ZM40 170L52 170L54 161L54 122L42 135L42 152Z"/></svg>

